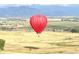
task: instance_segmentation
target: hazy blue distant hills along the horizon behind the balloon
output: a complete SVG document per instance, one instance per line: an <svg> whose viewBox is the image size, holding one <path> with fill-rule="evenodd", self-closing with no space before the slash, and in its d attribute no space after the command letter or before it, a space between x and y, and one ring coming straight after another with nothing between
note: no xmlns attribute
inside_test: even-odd
<svg viewBox="0 0 79 59"><path fill-rule="evenodd" d="M79 5L0 5L0 17L27 17L34 14L79 16Z"/></svg>

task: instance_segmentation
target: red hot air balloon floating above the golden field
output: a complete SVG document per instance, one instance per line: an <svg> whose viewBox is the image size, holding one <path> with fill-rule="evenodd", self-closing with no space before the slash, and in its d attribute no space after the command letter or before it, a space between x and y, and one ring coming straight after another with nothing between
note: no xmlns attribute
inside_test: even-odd
<svg viewBox="0 0 79 59"><path fill-rule="evenodd" d="M30 17L31 27L37 34L40 34L47 25L47 18L43 15L34 15Z"/></svg>

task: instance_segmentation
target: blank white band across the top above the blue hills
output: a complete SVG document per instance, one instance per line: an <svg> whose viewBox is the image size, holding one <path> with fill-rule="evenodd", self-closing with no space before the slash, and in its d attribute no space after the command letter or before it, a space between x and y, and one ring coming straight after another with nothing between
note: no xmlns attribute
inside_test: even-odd
<svg viewBox="0 0 79 59"><path fill-rule="evenodd" d="M79 0L0 0L0 4L79 4Z"/></svg>

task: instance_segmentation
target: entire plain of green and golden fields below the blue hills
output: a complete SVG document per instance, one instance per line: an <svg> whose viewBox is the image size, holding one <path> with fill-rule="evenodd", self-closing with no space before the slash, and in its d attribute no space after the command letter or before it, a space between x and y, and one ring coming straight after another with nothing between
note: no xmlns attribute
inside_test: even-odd
<svg viewBox="0 0 79 59"><path fill-rule="evenodd" d="M69 31L71 29L77 32L72 33ZM4 50L0 51L3 54L79 53L79 22L48 21L45 31L38 37L28 20L2 21L0 22L0 39L6 41Z"/></svg>

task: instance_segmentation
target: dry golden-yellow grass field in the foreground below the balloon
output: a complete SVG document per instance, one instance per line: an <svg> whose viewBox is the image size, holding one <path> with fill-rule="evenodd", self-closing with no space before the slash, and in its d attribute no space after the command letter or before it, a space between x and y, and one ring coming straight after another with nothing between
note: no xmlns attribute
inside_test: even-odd
<svg viewBox="0 0 79 59"><path fill-rule="evenodd" d="M0 53L79 53L79 33L44 31L38 38L35 32L0 31L0 39L6 40Z"/></svg>

